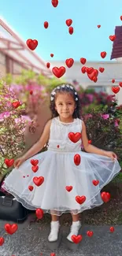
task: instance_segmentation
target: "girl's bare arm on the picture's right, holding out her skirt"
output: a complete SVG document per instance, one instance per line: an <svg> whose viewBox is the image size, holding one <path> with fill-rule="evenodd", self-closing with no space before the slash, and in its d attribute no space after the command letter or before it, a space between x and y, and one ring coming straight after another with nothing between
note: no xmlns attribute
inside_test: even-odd
<svg viewBox="0 0 122 256"><path fill-rule="evenodd" d="M87 151L87 153L93 153L93 154L101 154L103 156L106 156L105 150L101 150L98 147L94 147L93 145L88 143L87 139L87 130L86 130L86 125L82 121L82 142L83 142L83 147L84 150Z"/></svg>

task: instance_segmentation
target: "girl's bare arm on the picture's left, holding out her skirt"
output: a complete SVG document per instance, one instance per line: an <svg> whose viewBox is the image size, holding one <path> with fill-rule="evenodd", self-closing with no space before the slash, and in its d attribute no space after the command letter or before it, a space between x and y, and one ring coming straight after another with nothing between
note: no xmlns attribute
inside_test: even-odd
<svg viewBox="0 0 122 256"><path fill-rule="evenodd" d="M33 155L37 154L40 150L43 149L43 147L45 146L45 144L47 143L47 141L49 140L49 137L50 137L51 121L52 120L50 120L46 123L45 128L43 130L43 134L41 135L39 141L37 143L35 143L35 145L33 147L31 147L31 149L28 150L28 152L26 154L24 154L24 156L22 157L22 158L24 158L24 160L31 158Z"/></svg>

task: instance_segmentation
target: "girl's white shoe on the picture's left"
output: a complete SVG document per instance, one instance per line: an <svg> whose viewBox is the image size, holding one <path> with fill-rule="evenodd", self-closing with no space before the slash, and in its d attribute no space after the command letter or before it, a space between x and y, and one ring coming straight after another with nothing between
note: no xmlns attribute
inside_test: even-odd
<svg viewBox="0 0 122 256"><path fill-rule="evenodd" d="M55 242L58 239L60 224L59 221L51 221L50 224L50 235L48 236L49 242Z"/></svg>

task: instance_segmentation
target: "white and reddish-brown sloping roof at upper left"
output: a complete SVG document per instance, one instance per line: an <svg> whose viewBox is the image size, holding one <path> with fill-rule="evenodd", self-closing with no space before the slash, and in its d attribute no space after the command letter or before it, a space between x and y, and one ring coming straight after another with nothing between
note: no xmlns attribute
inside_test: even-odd
<svg viewBox="0 0 122 256"><path fill-rule="evenodd" d="M0 51L34 72L52 76L51 69L46 68L46 62L28 48L2 17L0 17Z"/></svg>

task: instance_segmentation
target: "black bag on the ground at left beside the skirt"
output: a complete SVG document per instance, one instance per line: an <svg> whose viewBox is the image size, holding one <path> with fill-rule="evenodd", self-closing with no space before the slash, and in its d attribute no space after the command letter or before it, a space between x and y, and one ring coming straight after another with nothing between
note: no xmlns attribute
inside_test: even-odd
<svg viewBox="0 0 122 256"><path fill-rule="evenodd" d="M7 174L0 182L0 190ZM13 195L6 195L4 192L0 191L0 220L22 223L27 219L29 213L30 210L24 208Z"/></svg>

